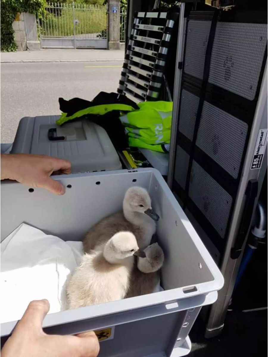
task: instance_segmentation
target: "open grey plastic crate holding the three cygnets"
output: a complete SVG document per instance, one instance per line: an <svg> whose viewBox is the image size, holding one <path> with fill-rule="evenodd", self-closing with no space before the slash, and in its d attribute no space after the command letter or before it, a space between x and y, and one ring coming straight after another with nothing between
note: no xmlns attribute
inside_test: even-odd
<svg viewBox="0 0 268 357"><path fill-rule="evenodd" d="M160 216L159 244L165 252L165 291L47 315L47 333L74 334L112 327L100 342L100 357L179 357L189 353L189 331L202 306L217 300L223 277L182 208L155 169L56 176L63 196L20 183L1 182L1 241L22 222L63 240L81 240L90 226L122 209L125 191L145 187ZM69 186L70 187L70 186ZM16 321L1 325L1 340Z"/></svg>

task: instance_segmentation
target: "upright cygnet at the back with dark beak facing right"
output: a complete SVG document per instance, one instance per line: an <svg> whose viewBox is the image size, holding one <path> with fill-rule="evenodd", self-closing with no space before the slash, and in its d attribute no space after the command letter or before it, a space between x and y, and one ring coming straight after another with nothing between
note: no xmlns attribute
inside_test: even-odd
<svg viewBox="0 0 268 357"><path fill-rule="evenodd" d="M120 231L132 232L139 248L144 249L150 244L156 230L155 221L158 220L159 216L152 210L149 193L142 187L130 187L124 196L123 212L105 217L93 226L84 238L84 251L89 252Z"/></svg>

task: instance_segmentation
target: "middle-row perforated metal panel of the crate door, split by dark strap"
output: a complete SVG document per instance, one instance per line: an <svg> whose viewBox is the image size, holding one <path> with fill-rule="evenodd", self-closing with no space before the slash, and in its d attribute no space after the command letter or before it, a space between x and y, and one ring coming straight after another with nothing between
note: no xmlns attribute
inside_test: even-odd
<svg viewBox="0 0 268 357"><path fill-rule="evenodd" d="M182 90L179 130L192 140L199 98ZM237 178L248 125L204 102L196 145L232 177Z"/></svg>

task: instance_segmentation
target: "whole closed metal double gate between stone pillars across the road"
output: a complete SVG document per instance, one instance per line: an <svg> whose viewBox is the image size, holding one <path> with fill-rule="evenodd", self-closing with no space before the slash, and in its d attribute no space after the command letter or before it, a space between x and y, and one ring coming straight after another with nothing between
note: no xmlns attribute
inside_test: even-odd
<svg viewBox="0 0 268 357"><path fill-rule="evenodd" d="M107 6L48 3L37 18L42 48L107 49Z"/></svg>

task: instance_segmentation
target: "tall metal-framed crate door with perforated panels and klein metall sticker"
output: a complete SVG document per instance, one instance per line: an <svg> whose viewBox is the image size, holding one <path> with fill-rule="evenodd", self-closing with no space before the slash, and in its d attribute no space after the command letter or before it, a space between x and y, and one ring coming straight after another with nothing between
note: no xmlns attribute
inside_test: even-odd
<svg viewBox="0 0 268 357"><path fill-rule="evenodd" d="M267 129L267 14L235 7L215 15L215 9L191 11L178 42L175 88L181 95L174 98L168 175L172 192L224 272L206 337L216 336L224 324L258 202L258 194L249 200L249 188L253 193L257 183L261 187L267 170L267 151L261 169L251 170L259 130ZM202 81L205 58L209 75Z"/></svg>

